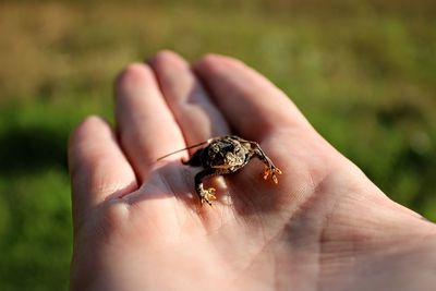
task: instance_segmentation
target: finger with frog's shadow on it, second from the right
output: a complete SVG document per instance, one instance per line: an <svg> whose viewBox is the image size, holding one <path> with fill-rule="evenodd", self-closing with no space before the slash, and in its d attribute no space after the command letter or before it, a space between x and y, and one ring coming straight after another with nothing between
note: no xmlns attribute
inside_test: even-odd
<svg viewBox="0 0 436 291"><path fill-rule="evenodd" d="M150 64L187 145L229 134L225 118L186 61L174 52L162 51L150 60Z"/></svg>

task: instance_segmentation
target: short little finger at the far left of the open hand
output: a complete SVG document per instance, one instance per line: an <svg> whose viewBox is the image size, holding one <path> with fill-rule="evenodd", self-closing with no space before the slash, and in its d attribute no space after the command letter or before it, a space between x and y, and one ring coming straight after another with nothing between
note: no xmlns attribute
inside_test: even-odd
<svg viewBox="0 0 436 291"><path fill-rule="evenodd" d="M96 117L87 118L71 134L69 167L75 225L108 197L122 196L137 185L110 126Z"/></svg>

